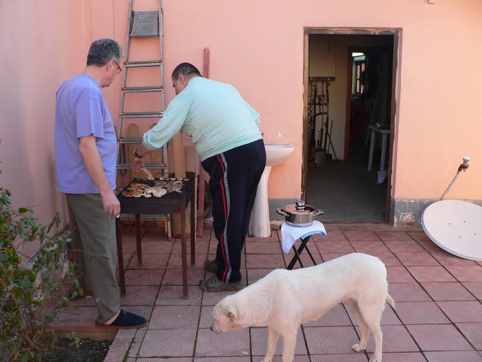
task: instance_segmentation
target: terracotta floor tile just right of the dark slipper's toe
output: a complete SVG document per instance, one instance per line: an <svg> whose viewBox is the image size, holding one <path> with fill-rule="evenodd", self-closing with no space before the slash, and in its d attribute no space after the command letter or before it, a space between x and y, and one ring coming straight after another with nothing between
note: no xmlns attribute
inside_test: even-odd
<svg viewBox="0 0 482 362"><path fill-rule="evenodd" d="M199 305L163 305L155 307L148 330L191 329L198 326Z"/></svg>

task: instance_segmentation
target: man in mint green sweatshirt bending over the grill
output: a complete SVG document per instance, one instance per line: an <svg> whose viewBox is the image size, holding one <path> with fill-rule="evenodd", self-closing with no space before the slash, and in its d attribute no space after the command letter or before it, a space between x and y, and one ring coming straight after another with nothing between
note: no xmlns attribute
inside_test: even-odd
<svg viewBox="0 0 482 362"><path fill-rule="evenodd" d="M202 168L209 173L218 239L216 259L205 262L206 270L215 274L200 281L200 288L239 290L241 252L266 165L260 114L233 86L201 77L192 64L180 63L171 78L177 96L158 124L144 134L132 169L140 171L145 154L161 148L180 130L192 137Z"/></svg>

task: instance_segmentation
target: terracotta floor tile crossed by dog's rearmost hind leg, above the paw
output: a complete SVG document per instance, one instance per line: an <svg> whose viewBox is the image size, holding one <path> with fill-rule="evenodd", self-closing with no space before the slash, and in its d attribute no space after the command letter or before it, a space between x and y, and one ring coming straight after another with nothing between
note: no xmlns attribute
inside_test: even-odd
<svg viewBox="0 0 482 362"><path fill-rule="evenodd" d="M384 352L419 352L417 344L413 341L404 325L382 325L381 332L384 334ZM373 350L373 336L370 336L366 345L366 351L373 353Z"/></svg>

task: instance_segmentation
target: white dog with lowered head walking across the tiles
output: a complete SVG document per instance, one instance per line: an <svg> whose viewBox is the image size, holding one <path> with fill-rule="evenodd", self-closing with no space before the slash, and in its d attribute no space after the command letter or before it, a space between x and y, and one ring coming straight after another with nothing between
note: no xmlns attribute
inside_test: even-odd
<svg viewBox="0 0 482 362"><path fill-rule="evenodd" d="M278 336L283 337L283 362L293 361L300 324L319 319L346 301L358 321L361 338L351 348L366 348L370 331L381 361L381 313L385 302L395 308L388 294L386 268L377 257L353 253L311 268L277 269L236 294L224 297L213 310L211 330L222 333L247 327L268 327L268 348L262 362L271 362Z"/></svg>

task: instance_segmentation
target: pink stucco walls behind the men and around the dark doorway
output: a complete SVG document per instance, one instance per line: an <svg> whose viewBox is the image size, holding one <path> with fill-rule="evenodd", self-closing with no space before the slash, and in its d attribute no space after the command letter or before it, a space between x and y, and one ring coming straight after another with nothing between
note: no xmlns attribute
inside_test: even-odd
<svg viewBox="0 0 482 362"><path fill-rule="evenodd" d="M156 5L136 0L137 10ZM128 1L0 1L1 185L43 221L65 214L54 189L54 95L83 70L90 42L125 46ZM140 8L140 7L144 7ZM232 83L262 116L269 142L293 143L271 173L269 197L300 195L304 28L399 28L392 197L437 198L465 154L472 157L451 197L482 199L482 2L479 0L163 0L167 101L181 61ZM8 30L8 31L7 31ZM105 90L113 118L121 79Z"/></svg>

